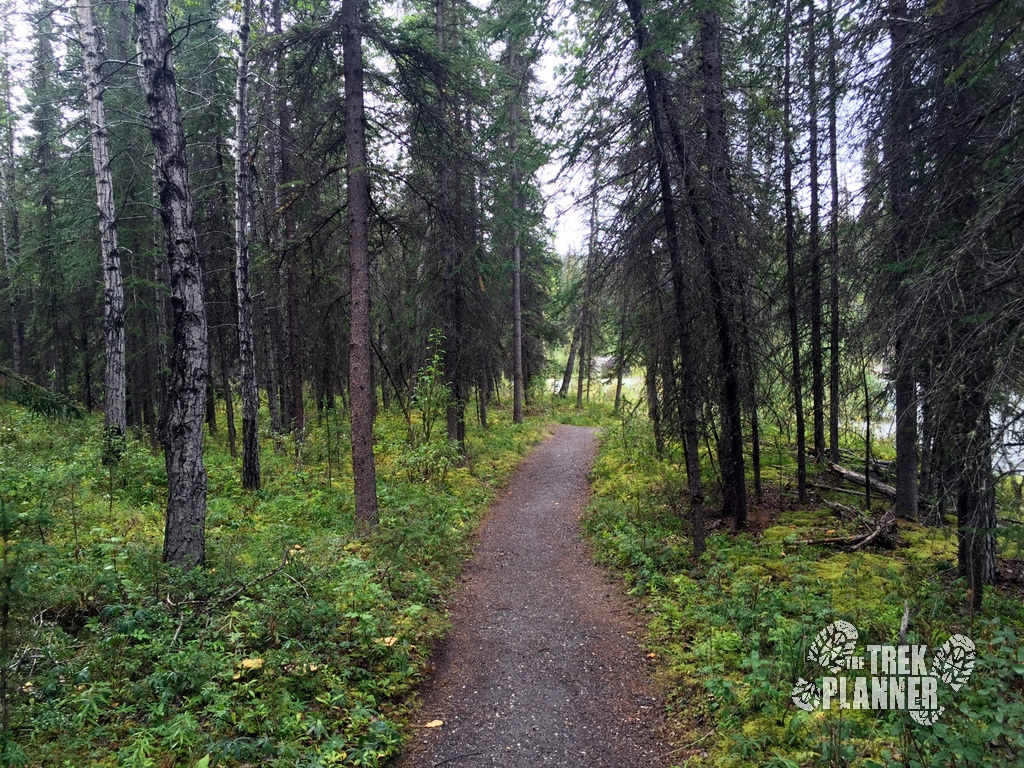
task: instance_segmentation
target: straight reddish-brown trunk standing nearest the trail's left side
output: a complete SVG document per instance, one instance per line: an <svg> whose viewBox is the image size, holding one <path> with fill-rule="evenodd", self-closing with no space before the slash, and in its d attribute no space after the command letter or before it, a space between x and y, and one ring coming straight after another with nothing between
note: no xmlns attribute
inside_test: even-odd
<svg viewBox="0 0 1024 768"><path fill-rule="evenodd" d="M370 189L367 179L366 112L362 101L362 38L359 0L342 0L342 53L345 69L345 168L348 176L348 268L351 309L348 389L352 430L355 519L368 531L377 524L377 471L374 465L373 386L370 318Z"/></svg>

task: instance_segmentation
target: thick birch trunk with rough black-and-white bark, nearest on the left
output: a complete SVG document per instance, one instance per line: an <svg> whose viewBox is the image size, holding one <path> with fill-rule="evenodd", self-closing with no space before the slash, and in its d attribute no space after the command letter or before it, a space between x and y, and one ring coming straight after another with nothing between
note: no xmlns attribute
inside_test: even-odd
<svg viewBox="0 0 1024 768"><path fill-rule="evenodd" d="M135 15L173 309L170 381L161 414L167 462L164 560L188 568L202 565L206 554L203 407L209 355L203 274L164 4L162 0L136 0Z"/></svg>

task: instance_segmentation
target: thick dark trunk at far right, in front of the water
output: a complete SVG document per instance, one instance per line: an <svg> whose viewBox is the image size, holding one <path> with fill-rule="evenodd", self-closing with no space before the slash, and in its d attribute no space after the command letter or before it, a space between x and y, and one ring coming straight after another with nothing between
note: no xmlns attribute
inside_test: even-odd
<svg viewBox="0 0 1024 768"><path fill-rule="evenodd" d="M939 68L935 136L937 201L935 215L945 236L951 285L947 298L954 308L948 352L941 369L948 376L948 403L943 416L952 425L954 450L944 462L957 472L955 487L961 573L968 582L968 608L982 604L983 587L995 571L995 504L992 480L992 396L999 358L991 322L979 322L993 309L989 285L993 258L975 223L982 210L986 164L981 152L987 104L979 67L976 35L986 23L981 0L948 0L935 19ZM950 237L951 233L951 237ZM1002 270L1002 266L997 267ZM997 338L997 337L996 337Z"/></svg>

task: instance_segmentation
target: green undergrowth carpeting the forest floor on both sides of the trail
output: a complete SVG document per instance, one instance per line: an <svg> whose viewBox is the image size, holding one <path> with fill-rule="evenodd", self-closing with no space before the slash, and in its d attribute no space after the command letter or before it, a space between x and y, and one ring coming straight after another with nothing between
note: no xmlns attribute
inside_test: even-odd
<svg viewBox="0 0 1024 768"><path fill-rule="evenodd" d="M53 423L4 409L0 654L10 728L0 764L386 763L412 725L471 531L545 425L561 422L602 428L585 526L650 615L679 765L1024 765L1019 594L990 590L983 611L965 615L949 526L901 522L893 550L801 544L857 523L795 503L793 454L775 433L763 443L771 470L755 529L737 536L718 521L693 561L682 459L674 447L655 456L637 386L623 414L598 385L581 410L535 393L523 425L493 409L488 431L470 426L466 460L436 428L428 437L429 398L412 429L381 414L381 523L368 539L353 532L342 414L314 414L305 439L285 437L279 451L264 435L256 494L241 489L220 431L206 455L207 567L187 573L160 562L162 455L131 438L104 464L98 419ZM850 447L860 447L855 436ZM879 444L878 455L887 451ZM1010 485L999 504L1019 513ZM1019 552L1017 530L1000 531L1004 552ZM821 674L806 655L822 627L843 618L862 644L892 642L905 602L911 642L934 648L963 632L978 643L974 675L943 692L939 723L796 709L795 681Z"/></svg>

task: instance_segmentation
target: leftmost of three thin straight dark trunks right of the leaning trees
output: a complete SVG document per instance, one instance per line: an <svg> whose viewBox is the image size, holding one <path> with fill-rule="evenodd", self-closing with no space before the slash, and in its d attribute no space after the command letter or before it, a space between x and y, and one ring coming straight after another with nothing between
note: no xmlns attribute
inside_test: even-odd
<svg viewBox="0 0 1024 768"><path fill-rule="evenodd" d="M797 324L797 231L794 215L793 199L793 92L790 38L793 33L792 0L785 0L785 45L784 74L782 76L783 99L783 186L785 195L785 274L788 289L790 313L790 350L793 368L791 370L791 385L793 387L793 408L797 415L797 493L800 501L807 501L807 457L804 437L804 395L802 391L800 370L800 328Z"/></svg>

